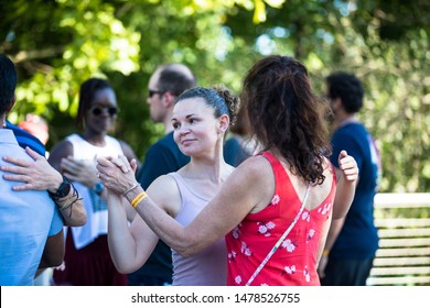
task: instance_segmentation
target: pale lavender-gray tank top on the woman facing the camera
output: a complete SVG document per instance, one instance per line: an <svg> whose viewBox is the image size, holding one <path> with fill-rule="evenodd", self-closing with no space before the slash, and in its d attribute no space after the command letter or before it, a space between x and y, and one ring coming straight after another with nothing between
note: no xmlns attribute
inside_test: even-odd
<svg viewBox="0 0 430 308"><path fill-rule="evenodd" d="M170 173L181 194L181 209L175 220L187 226L209 200L200 196L178 173ZM172 250L173 285L175 286L225 286L227 283L227 250L224 238L190 256L182 257Z"/></svg>

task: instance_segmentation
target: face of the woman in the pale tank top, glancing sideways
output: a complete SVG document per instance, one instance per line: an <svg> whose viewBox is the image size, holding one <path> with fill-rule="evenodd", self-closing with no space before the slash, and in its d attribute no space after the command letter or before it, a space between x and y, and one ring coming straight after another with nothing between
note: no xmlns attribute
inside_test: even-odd
<svg viewBox="0 0 430 308"><path fill-rule="evenodd" d="M182 153L195 157L213 155L222 147L228 117L216 119L203 98L187 98L174 106L172 125L174 141Z"/></svg>

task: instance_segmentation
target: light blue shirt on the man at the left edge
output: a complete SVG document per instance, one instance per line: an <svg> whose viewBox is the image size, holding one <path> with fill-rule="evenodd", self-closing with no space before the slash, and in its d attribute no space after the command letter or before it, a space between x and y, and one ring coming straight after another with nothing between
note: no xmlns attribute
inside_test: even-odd
<svg viewBox="0 0 430 308"><path fill-rule="evenodd" d="M12 131L0 129L0 156L4 155L31 161ZM2 175L0 172L0 285L33 285L46 239L63 230L63 221L46 191L13 191L17 183Z"/></svg>

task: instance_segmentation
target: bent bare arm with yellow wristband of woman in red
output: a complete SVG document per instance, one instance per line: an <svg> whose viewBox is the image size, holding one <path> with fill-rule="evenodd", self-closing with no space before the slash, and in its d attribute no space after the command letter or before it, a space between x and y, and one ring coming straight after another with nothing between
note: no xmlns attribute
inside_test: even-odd
<svg viewBox="0 0 430 308"><path fill-rule="evenodd" d="M97 169L105 186L120 195L136 184L136 178L131 172L118 170L117 163L98 158ZM267 191L266 180L272 179L273 175L268 165L269 162L264 157L251 157L241 164L228 177L217 196L186 227L162 210L157 200L146 197L140 186L127 194L126 198L161 240L181 255L189 256L224 237L255 207L270 202L273 190ZM151 185L148 195L166 191L169 189L165 186Z"/></svg>

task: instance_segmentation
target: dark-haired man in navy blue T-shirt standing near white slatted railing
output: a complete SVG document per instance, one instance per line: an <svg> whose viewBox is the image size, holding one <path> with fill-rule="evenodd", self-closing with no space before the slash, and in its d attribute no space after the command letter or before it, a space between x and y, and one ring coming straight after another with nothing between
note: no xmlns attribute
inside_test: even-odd
<svg viewBox="0 0 430 308"><path fill-rule="evenodd" d="M374 197L378 188L379 154L373 138L356 118L363 107L362 82L342 72L330 75L326 82L335 114L332 164L338 168L338 153L345 150L357 162L359 179L348 213L332 221L319 273L322 285L365 286L378 249Z"/></svg>

